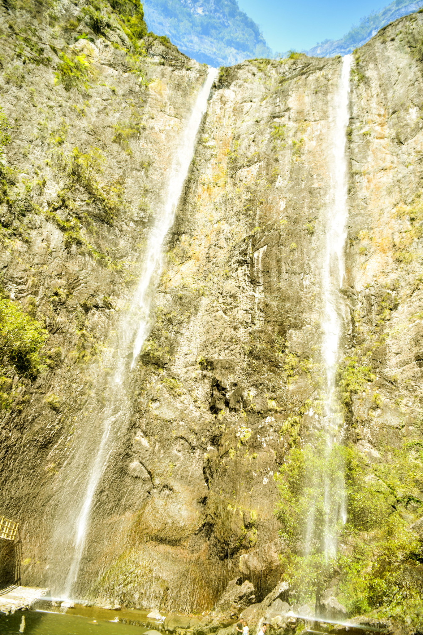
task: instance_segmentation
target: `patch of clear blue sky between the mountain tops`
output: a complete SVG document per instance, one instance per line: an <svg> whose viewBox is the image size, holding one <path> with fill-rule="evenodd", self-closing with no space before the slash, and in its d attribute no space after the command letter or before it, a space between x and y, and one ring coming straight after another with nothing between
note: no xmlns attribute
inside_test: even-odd
<svg viewBox="0 0 423 635"><path fill-rule="evenodd" d="M238 0L261 27L273 51L308 50L325 39L339 39L371 11L381 9L389 0Z"/></svg>

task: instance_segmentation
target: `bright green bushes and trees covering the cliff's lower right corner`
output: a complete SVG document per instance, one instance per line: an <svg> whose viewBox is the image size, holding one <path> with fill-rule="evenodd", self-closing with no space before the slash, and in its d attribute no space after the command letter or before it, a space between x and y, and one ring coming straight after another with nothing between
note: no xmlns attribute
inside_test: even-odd
<svg viewBox="0 0 423 635"><path fill-rule="evenodd" d="M419 621L423 552L410 520L423 507L423 446L388 450L391 460L373 465L352 447L328 448L322 437L289 451L275 514L290 548L284 577L297 601L315 595L318 607L337 578L337 599L349 616L375 611L403 624L406 616ZM327 558L330 536L337 553Z"/></svg>

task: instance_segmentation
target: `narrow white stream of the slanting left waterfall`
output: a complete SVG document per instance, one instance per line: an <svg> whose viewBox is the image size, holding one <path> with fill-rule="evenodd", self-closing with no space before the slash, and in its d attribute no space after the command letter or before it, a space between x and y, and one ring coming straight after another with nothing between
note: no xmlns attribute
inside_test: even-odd
<svg viewBox="0 0 423 635"><path fill-rule="evenodd" d="M179 197L181 196L183 185L186 176L188 175L190 163L194 154L195 138L197 137L198 127L200 126L202 115L207 108L207 99L209 97L214 78L216 77L216 72L216 69L209 68L204 84L202 88L200 88L200 91L198 91L197 100L195 101L188 124L182 132L181 144L179 145L178 151L176 152L172 162L171 173L167 186L166 204L162 215L158 218L148 239L146 257L141 269L140 284L138 285L136 293L134 293L129 314L127 318L122 321L119 327L119 346L113 352L115 357L114 366L116 370L112 386L110 387L112 391L112 400L111 403L107 404L101 416L100 442L95 447L96 439L89 439L91 446L94 445L94 460L91 459L91 470L88 485L86 485L86 488L84 489L84 498L78 505L79 513L77 514L77 519L75 523L72 524L71 528L71 531L73 532L72 542L74 546L74 553L65 582L66 598L70 598L77 580L81 565L81 558L86 544L94 495L101 476L105 470L105 466L107 465L110 452L112 451L114 425L119 425L119 422L120 426L122 425L120 419L122 416L125 417L127 413L125 404L127 403L127 400L131 400L130 391L126 390L126 384L129 384L130 380L127 368L127 347L135 337L131 363L132 370L134 364L136 363L136 358L141 351L141 347L148 336L150 304L153 297L153 291L155 289L155 283L157 282L157 274L159 273L162 243L174 220L174 213L178 206ZM83 471L86 473L84 460L77 462L77 468L78 466L80 473ZM72 480L75 482L76 479L73 477ZM67 502L67 504L69 505L69 502ZM58 534L60 534L60 538L62 538L62 543L63 535L65 535L63 525L66 525L65 521L62 521L62 531L58 530Z"/></svg>

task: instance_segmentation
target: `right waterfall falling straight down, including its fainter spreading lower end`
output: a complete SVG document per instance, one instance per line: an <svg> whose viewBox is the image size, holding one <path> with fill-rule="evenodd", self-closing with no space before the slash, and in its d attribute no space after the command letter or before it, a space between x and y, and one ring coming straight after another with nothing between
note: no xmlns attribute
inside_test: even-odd
<svg viewBox="0 0 423 635"><path fill-rule="evenodd" d="M330 156L330 194L325 219L325 243L320 265L322 279L322 365L325 373L323 396L323 435L325 450L316 462L315 500L309 509L306 545L323 552L325 559L337 551L337 525L346 521L346 500L342 460L334 451L342 434L342 414L335 399L335 372L344 331L344 245L346 240L347 175L346 128L349 121L349 72L351 56L342 59L341 75L332 104L332 156ZM317 495L318 494L318 495ZM323 518L322 518L323 516ZM316 544L318 546L316 547Z"/></svg>

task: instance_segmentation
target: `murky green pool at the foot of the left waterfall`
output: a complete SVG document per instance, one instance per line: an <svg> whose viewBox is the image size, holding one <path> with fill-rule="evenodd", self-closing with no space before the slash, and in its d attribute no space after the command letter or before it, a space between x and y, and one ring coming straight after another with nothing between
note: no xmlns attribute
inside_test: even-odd
<svg viewBox="0 0 423 635"><path fill-rule="evenodd" d="M146 630L107 619L62 613L25 611L7 617L0 614L0 635L143 635Z"/></svg>

